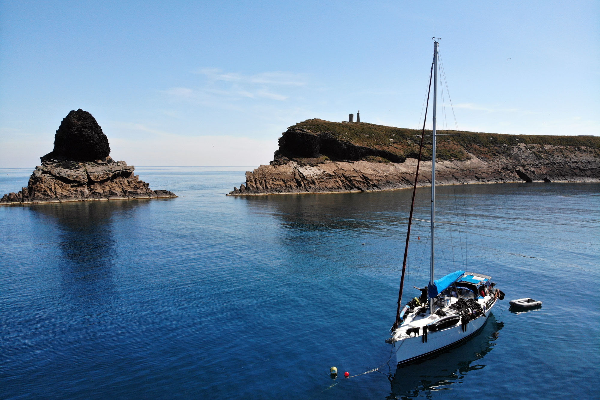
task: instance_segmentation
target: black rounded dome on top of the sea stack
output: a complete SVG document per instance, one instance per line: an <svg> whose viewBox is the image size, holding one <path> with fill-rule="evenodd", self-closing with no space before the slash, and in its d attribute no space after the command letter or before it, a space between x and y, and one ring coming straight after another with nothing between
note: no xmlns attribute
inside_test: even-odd
<svg viewBox="0 0 600 400"><path fill-rule="evenodd" d="M43 159L93 161L109 157L109 139L87 111L73 110L62 120L54 149Z"/></svg>

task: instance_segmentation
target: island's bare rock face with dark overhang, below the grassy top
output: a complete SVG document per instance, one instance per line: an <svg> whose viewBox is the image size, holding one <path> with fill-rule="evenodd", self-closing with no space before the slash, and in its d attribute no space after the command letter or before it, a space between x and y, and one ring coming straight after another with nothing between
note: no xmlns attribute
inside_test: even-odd
<svg viewBox="0 0 600 400"><path fill-rule="evenodd" d="M417 160L410 152L401 157L298 127L290 127L279 143L274 161L246 172L245 184L229 195L394 190L412 187L415 179ZM463 148L464 159L437 160L436 184L600 182L598 146L499 147L493 156L485 148L478 154ZM421 161L419 185L431 185L430 160Z"/></svg>

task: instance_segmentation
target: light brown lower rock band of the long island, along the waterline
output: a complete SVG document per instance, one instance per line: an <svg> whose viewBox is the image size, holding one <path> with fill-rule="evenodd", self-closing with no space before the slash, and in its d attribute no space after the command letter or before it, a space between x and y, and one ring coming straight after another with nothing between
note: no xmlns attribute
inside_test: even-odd
<svg viewBox="0 0 600 400"><path fill-rule="evenodd" d="M482 184L502 182L600 182L600 161L574 157L559 163L524 160L515 170L512 160L438 161L436 184ZM260 166L246 173L246 182L230 195L277 193L325 193L394 190L412 187L416 160L404 163L371 161L325 161L316 166L296 161ZM519 174L520 173L520 174ZM419 185L431 185L431 161L422 161Z"/></svg>

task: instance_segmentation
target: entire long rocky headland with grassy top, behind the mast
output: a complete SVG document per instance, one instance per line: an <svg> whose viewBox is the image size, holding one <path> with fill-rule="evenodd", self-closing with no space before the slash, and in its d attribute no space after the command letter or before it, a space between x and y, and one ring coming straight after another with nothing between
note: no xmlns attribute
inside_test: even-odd
<svg viewBox="0 0 600 400"><path fill-rule="evenodd" d="M458 136L437 140L436 184L600 182L600 137L438 133ZM284 132L274 160L247 172L229 195L410 187L420 137L418 130L309 119ZM431 137L425 139L422 186L431 185Z"/></svg>

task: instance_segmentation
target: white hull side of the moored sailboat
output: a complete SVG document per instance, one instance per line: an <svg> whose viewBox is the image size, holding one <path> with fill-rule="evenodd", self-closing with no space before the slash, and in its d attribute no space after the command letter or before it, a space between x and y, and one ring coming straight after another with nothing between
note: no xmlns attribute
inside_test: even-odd
<svg viewBox="0 0 600 400"><path fill-rule="evenodd" d="M463 332L463 328L459 323L456 326L437 332L428 332L427 342L425 343L423 342L422 335L394 342L397 364L410 363L421 358L433 356L446 348L469 339L470 336L474 335L484 326L494 305L496 305L496 302L491 305L490 309L486 310L485 316L481 315L475 318L475 320L470 321L466 326L466 332Z"/></svg>

